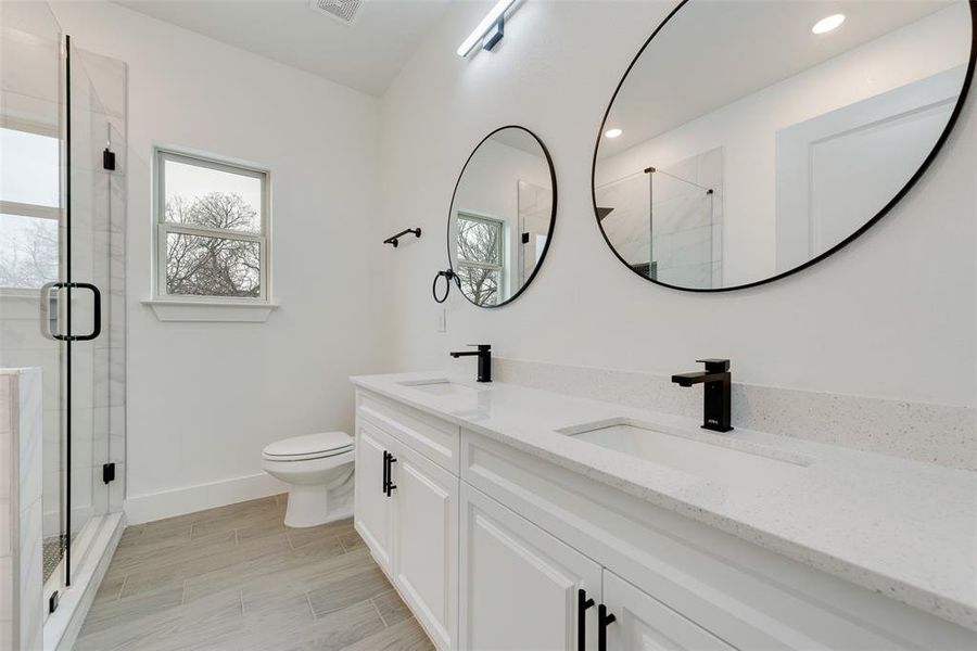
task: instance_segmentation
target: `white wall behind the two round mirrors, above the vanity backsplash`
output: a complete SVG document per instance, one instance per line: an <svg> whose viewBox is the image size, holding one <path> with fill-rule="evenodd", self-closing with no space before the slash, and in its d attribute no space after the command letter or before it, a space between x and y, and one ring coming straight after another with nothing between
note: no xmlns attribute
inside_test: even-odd
<svg viewBox="0 0 977 651"><path fill-rule="evenodd" d="M490 3L459 3L383 98L388 227L421 226L389 265L389 370L474 372L447 352L488 342L503 357L657 372L728 356L740 382L969 405L977 403L977 114L974 98L936 163L884 220L824 263L728 294L656 286L607 248L591 201L594 142L607 102L671 2L526 2L494 52L455 48ZM431 280L446 266L457 169L488 131L522 124L554 157L560 196L553 245L509 306L453 295L446 334Z"/></svg>

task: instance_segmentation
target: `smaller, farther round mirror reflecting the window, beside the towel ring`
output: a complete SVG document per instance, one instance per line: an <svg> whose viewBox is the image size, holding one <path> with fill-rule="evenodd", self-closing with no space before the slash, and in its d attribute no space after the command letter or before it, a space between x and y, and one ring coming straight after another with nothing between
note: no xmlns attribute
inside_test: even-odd
<svg viewBox="0 0 977 651"><path fill-rule="evenodd" d="M522 127L486 136L465 163L448 216L448 259L465 297L498 307L519 296L549 247L556 175L549 152Z"/></svg>

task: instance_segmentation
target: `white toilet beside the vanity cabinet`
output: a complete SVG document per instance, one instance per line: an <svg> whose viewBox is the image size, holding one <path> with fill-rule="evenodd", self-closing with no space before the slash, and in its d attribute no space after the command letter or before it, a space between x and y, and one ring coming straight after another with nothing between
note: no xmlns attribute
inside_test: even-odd
<svg viewBox="0 0 977 651"><path fill-rule="evenodd" d="M262 469L289 485L286 526L353 514L353 437L345 432L294 436L262 451Z"/></svg>

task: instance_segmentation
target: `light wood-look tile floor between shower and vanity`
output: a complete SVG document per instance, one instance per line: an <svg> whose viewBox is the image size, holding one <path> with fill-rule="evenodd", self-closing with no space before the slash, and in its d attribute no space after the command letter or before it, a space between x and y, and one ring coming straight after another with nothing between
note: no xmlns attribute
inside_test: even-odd
<svg viewBox="0 0 977 651"><path fill-rule="evenodd" d="M433 649L352 521L288 528L284 500L126 528L75 650Z"/></svg>

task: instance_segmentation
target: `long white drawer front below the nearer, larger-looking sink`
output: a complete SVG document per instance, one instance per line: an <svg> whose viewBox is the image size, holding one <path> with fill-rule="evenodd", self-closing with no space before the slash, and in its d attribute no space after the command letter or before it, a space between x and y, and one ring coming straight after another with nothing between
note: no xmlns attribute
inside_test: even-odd
<svg viewBox="0 0 977 651"><path fill-rule="evenodd" d="M972 631L462 430L461 478L739 649L966 649Z"/></svg>

